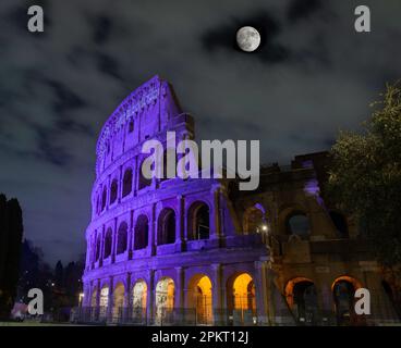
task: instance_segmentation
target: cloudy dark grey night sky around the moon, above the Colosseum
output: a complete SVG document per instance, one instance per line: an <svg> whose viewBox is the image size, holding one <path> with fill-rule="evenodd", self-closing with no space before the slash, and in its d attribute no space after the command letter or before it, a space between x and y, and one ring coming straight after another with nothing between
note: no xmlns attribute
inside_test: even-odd
<svg viewBox="0 0 401 348"><path fill-rule="evenodd" d="M27 30L41 4L45 33ZM369 34L354 9L372 10ZM260 139L265 162L328 150L401 78L401 1L0 1L0 192L49 262L85 251L97 135L158 74L196 138ZM243 25L257 52L236 49Z"/></svg>

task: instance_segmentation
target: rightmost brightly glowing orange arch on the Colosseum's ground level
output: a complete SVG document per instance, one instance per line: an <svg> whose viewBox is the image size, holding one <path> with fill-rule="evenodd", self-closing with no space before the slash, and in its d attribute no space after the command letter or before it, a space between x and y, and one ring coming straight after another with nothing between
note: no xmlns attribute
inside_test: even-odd
<svg viewBox="0 0 401 348"><path fill-rule="evenodd" d="M252 324L256 316L256 287L252 275L238 272L227 282L227 308L233 324Z"/></svg>

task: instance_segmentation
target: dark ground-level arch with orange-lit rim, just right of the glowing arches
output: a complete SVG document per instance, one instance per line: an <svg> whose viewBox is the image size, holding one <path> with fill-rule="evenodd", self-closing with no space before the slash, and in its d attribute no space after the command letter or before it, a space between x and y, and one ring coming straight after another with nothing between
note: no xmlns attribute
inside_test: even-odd
<svg viewBox="0 0 401 348"><path fill-rule="evenodd" d="M285 299L300 323L314 324L318 314L315 283L306 277L295 277L285 285Z"/></svg>

